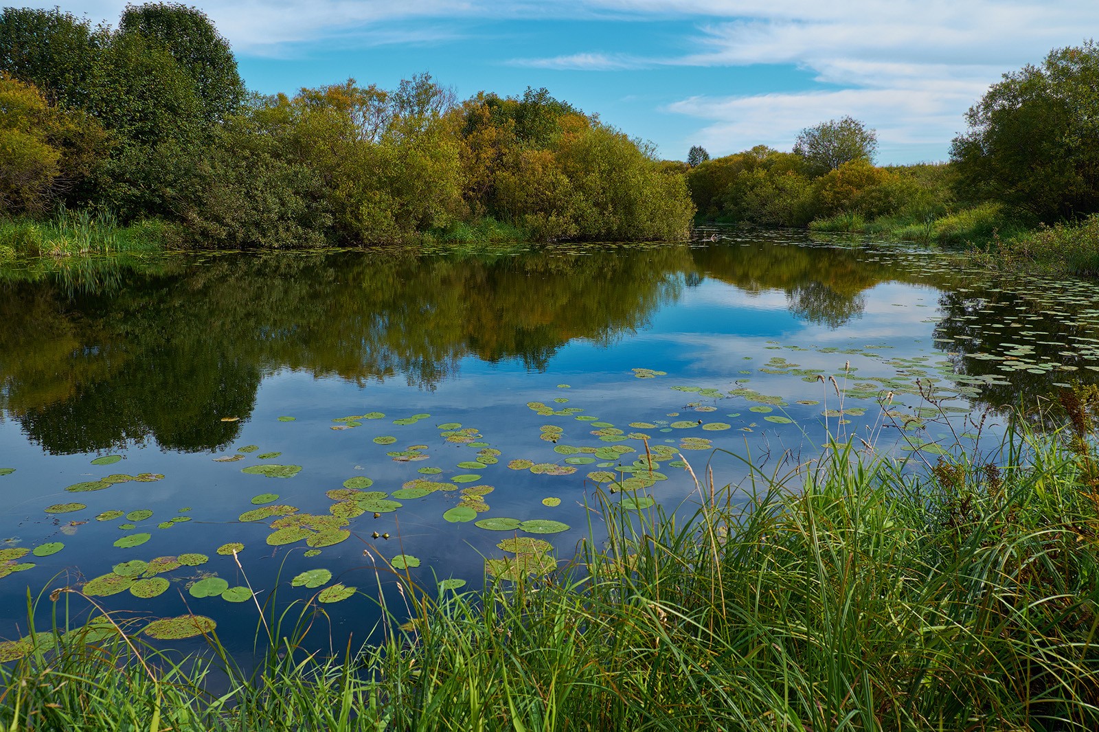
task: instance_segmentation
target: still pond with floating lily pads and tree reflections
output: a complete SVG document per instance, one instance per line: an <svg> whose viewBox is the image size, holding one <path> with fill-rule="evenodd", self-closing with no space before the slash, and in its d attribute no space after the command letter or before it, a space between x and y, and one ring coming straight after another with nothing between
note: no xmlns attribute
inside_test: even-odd
<svg viewBox="0 0 1099 732"><path fill-rule="evenodd" d="M1013 407L1099 379L1094 284L715 233L0 273L0 637L70 587L241 654L257 603L311 601L342 647L379 599L406 612L396 572L434 595L548 569L530 540L598 541L597 500L675 510L711 470L746 491L832 437L993 451Z"/></svg>

